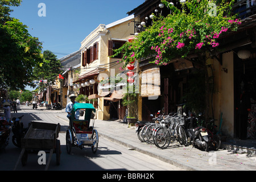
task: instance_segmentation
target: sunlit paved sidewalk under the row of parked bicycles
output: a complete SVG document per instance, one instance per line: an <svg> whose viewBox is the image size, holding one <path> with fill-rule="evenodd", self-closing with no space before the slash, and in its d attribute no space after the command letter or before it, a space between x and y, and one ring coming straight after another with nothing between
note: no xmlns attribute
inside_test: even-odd
<svg viewBox="0 0 256 182"><path fill-rule="evenodd" d="M64 110L56 111L56 117L68 122ZM127 123L118 121L101 121L95 119L94 128L100 137L108 138L113 142L123 144L127 150L136 150L150 155L164 162L174 164L185 170L195 171L255 171L256 156L250 154L233 154L233 152L220 149L218 151L205 152L192 146L179 146L172 143L164 150L157 148L154 144L141 142L135 127L128 127ZM99 146L101 142L99 139Z"/></svg>

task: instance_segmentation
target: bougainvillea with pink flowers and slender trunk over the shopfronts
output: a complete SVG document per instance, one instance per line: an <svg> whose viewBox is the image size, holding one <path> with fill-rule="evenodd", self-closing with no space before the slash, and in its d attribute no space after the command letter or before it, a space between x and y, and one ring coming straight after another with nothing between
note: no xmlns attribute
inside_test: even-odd
<svg viewBox="0 0 256 182"><path fill-rule="evenodd" d="M125 62L124 67L143 57L158 65L167 65L175 58L195 63L205 73L205 117L208 118L210 80L205 60L219 46L217 41L220 35L236 31L241 24L230 12L234 0L221 0L217 8L208 0L188 0L183 3L181 10L174 3L162 2L170 8L171 14L166 17L155 16L151 27L117 49L115 55L123 53L120 63ZM190 59L191 54L198 58Z"/></svg>

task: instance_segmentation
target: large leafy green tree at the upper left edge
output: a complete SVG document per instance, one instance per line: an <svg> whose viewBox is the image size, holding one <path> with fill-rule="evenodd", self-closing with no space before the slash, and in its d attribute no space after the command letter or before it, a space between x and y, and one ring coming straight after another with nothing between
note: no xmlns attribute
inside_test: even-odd
<svg viewBox="0 0 256 182"><path fill-rule="evenodd" d="M42 64L42 43L32 37L27 26L11 18L9 6L21 1L0 1L0 86L11 90L31 85L33 67Z"/></svg>

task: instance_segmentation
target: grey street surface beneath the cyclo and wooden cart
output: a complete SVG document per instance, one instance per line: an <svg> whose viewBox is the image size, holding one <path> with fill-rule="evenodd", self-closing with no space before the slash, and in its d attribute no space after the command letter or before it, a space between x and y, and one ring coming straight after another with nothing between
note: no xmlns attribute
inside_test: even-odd
<svg viewBox="0 0 256 182"><path fill-rule="evenodd" d="M45 108L45 107L44 107ZM84 170L84 171L175 171L183 170L179 167L175 167L169 163L152 158L141 152L135 150L129 150L120 144L112 142L100 135L98 151L93 154L90 147L80 149L77 147L72 148L71 155L67 154L65 146L65 132L68 127L68 122L64 119L56 118L56 112L61 110L44 110L43 107L38 107L37 110L33 110L32 106L22 105L18 107L18 113L11 113L12 117L19 117L24 114L22 122L24 127L28 127L28 123L31 121L60 123L61 129L59 134L59 140L61 144L60 166L56 165L56 154L53 153L51 163L49 165L49 171L72 171L72 170ZM12 133L10 135L9 145L5 148L5 151L0 151L0 171L13 170L18 160L21 149L14 146L11 142ZM46 152L46 160L48 159L48 152ZM19 163L16 170L20 171L43 171L44 164L39 165L38 160L40 155L38 151L31 151L28 154L27 165L22 166Z"/></svg>

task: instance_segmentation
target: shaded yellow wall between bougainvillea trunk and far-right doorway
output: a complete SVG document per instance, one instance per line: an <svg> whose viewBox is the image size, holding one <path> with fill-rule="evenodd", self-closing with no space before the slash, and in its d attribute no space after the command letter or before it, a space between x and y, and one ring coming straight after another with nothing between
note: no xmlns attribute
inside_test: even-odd
<svg viewBox="0 0 256 182"><path fill-rule="evenodd" d="M216 124L220 125L222 113L222 134L234 137L234 72L233 52L222 55L222 65L214 60L214 118L218 119ZM228 73L223 68L228 69Z"/></svg>

